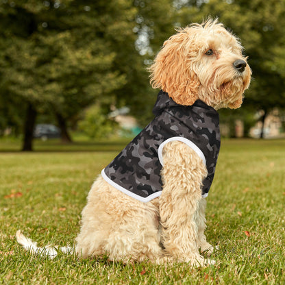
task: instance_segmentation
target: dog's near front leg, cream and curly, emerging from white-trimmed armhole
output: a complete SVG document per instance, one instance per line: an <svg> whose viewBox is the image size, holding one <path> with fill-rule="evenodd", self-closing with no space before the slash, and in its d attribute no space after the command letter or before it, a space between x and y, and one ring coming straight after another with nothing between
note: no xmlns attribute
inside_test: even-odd
<svg viewBox="0 0 285 285"><path fill-rule="evenodd" d="M193 149L178 141L167 143L162 156L164 187L160 196L160 219L165 251L177 261L212 264L214 261L205 260L199 254L195 219L202 199L202 181L207 175L206 166Z"/></svg>

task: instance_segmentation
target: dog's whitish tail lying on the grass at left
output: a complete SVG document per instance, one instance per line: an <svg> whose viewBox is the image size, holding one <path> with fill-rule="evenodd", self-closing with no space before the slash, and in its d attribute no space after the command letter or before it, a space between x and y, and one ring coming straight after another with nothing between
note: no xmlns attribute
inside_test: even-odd
<svg viewBox="0 0 285 285"><path fill-rule="evenodd" d="M31 251L32 253L38 254L40 256L49 256L49 258L55 258L58 255L58 251L62 251L63 253L72 254L72 247L52 247L51 245L47 245L45 247L38 247L37 243L32 241L29 238L26 238L21 230L16 232L16 240L20 245L23 245L24 249L27 251Z"/></svg>

